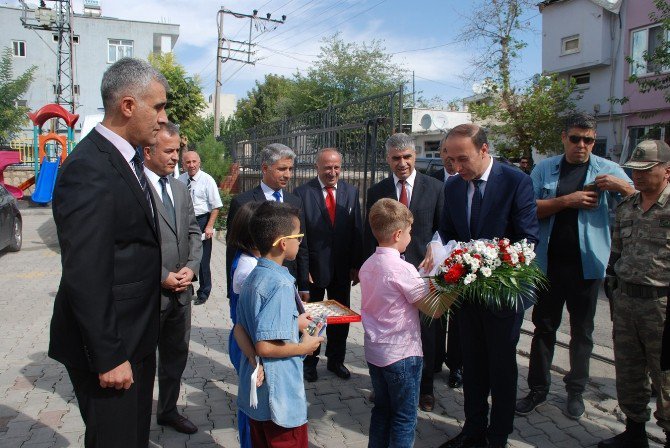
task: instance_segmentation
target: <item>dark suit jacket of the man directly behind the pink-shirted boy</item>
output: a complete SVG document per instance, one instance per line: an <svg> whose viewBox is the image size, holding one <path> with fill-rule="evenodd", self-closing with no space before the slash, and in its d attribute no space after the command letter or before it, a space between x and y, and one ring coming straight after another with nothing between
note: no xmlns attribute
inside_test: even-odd
<svg viewBox="0 0 670 448"><path fill-rule="evenodd" d="M372 234L367 219L370 208L381 198L398 199L393 176L378 182L368 189L365 219L365 259L372 255L377 247L377 240ZM426 245L440 225L442 206L444 205L444 184L430 176L417 171L409 210L414 215L412 224L412 241L405 250L405 260L418 266L426 255Z"/></svg>

